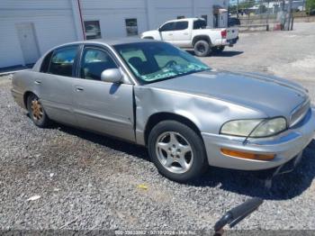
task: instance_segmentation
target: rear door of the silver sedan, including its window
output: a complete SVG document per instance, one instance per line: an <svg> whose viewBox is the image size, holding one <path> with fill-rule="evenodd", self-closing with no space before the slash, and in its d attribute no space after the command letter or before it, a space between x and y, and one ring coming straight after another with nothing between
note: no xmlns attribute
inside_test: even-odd
<svg viewBox="0 0 315 236"><path fill-rule="evenodd" d="M78 51L79 45L71 45L50 52L34 81L40 87L40 100L49 118L71 125L76 125L71 92Z"/></svg>

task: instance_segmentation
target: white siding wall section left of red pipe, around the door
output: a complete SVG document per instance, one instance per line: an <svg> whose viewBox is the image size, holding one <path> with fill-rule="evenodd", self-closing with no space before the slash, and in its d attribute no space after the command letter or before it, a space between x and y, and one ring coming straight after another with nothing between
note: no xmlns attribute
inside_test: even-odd
<svg viewBox="0 0 315 236"><path fill-rule="evenodd" d="M69 1L1 0L0 68L24 64L15 23L33 23L40 54L58 44L76 41Z"/></svg>

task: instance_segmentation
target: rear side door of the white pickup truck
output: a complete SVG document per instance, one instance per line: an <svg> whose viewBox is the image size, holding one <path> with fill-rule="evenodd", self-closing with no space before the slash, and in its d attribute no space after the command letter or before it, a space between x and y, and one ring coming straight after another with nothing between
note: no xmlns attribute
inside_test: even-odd
<svg viewBox="0 0 315 236"><path fill-rule="evenodd" d="M172 43L174 43L178 47L188 47L191 38L192 31L189 30L188 21L176 22Z"/></svg>

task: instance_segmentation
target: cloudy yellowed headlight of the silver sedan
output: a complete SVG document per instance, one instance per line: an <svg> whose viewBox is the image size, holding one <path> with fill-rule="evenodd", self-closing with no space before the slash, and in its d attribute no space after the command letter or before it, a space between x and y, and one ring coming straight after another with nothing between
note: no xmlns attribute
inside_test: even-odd
<svg viewBox="0 0 315 236"><path fill-rule="evenodd" d="M284 117L274 119L238 120L223 124L220 133L242 137L267 137L286 129Z"/></svg>

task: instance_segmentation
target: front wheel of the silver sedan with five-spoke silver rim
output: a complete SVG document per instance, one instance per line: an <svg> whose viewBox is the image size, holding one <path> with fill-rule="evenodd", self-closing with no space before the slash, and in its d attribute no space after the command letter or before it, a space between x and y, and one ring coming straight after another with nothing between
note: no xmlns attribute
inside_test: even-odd
<svg viewBox="0 0 315 236"><path fill-rule="evenodd" d="M148 135L148 153L159 173L176 182L200 177L208 168L202 138L183 123L157 123Z"/></svg>

